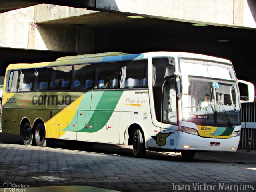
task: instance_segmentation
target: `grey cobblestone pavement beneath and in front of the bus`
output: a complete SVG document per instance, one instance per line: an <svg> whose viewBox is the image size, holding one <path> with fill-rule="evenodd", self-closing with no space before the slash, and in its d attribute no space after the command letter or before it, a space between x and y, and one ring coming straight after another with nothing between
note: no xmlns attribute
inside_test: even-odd
<svg viewBox="0 0 256 192"><path fill-rule="evenodd" d="M199 153L187 162L174 153L147 152L145 158L134 158L130 148L116 145L95 144L86 149L59 144L48 148L25 146L20 140L6 142L1 136L0 188L4 182L15 182L29 187L86 185L124 192L163 192L170 191L173 183L252 184L256 180L256 154L237 160L232 155Z"/></svg>

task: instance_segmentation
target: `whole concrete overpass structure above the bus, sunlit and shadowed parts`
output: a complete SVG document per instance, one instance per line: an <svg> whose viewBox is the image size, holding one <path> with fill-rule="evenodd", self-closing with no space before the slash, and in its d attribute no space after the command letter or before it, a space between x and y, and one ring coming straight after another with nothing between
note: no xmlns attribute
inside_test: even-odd
<svg viewBox="0 0 256 192"><path fill-rule="evenodd" d="M238 78L256 82L255 0L70 2L0 0L0 76L13 62L92 52L167 50L228 58ZM22 7L26 8L6 12Z"/></svg>

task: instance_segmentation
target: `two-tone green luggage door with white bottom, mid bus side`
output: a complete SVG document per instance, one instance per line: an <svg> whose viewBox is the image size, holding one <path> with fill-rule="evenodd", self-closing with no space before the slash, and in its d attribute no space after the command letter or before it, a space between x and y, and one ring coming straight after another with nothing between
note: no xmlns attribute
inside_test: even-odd
<svg viewBox="0 0 256 192"><path fill-rule="evenodd" d="M77 111L77 140L96 141L95 119L95 111Z"/></svg>

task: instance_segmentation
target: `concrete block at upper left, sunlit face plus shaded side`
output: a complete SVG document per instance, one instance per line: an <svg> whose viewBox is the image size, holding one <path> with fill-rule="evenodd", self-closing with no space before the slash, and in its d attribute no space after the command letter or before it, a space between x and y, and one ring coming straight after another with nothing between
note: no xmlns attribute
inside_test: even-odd
<svg viewBox="0 0 256 192"><path fill-rule="evenodd" d="M86 9L41 4L0 14L0 47L93 52L94 29L40 24L91 13ZM38 22L38 23L36 23ZM80 34L83 35L80 35Z"/></svg>

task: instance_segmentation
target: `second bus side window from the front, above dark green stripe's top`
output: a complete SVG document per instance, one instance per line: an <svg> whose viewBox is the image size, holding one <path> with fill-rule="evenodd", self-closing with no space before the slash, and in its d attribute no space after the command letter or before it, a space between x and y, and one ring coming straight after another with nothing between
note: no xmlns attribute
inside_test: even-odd
<svg viewBox="0 0 256 192"><path fill-rule="evenodd" d="M96 85L97 89L116 89L118 88L120 70L122 63L105 63L100 64L96 70Z"/></svg>

